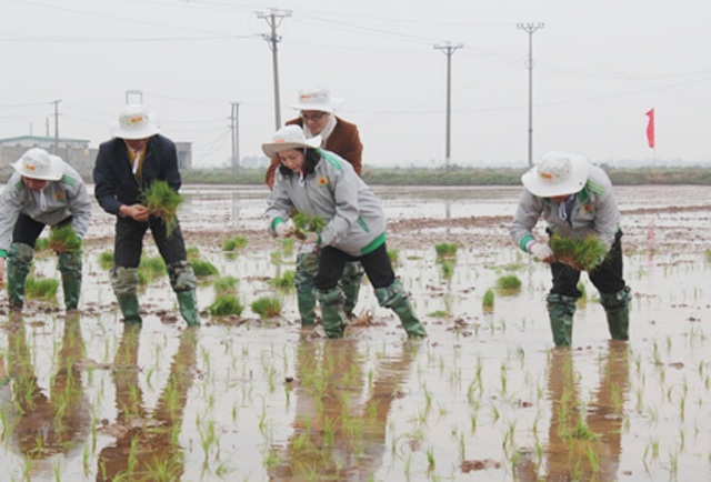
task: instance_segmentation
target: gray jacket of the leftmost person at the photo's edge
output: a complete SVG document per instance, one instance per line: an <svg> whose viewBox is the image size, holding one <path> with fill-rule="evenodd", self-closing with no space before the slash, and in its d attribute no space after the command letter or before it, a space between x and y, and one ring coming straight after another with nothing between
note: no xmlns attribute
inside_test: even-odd
<svg viewBox="0 0 711 482"><path fill-rule="evenodd" d="M79 237L84 237L91 219L91 200L81 175L74 168L67 162L63 163L63 168L64 174L59 181L50 181L38 192L24 185L19 172L10 177L2 193L0 250L9 251L12 230L20 213L47 225L59 224L71 215L71 227Z"/></svg>

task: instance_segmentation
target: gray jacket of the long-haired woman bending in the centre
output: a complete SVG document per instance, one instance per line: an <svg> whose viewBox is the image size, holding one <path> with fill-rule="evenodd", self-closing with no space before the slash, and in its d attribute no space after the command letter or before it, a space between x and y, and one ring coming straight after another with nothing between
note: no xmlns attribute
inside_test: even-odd
<svg viewBox="0 0 711 482"><path fill-rule="evenodd" d="M320 215L327 222L321 245L361 257L385 241L385 214L380 200L338 154L319 149L321 160L301 182L298 175L277 171L267 215L270 231L293 211Z"/></svg>

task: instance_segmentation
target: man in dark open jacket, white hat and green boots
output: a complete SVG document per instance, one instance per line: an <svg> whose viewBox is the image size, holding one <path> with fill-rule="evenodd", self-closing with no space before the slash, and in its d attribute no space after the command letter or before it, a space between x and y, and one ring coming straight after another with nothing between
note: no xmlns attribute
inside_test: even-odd
<svg viewBox="0 0 711 482"><path fill-rule="evenodd" d="M143 106L127 106L114 125L114 139L99 148L93 170L94 195L104 211L116 215L111 285L123 313L123 322L140 324L138 265L143 235L150 228L168 267L180 313L189 325L197 325L200 324L200 315L196 275L187 261L180 225L177 224L168 235L166 223L140 203L141 193L152 182L167 181L176 191L182 182L176 144L158 131Z"/></svg>

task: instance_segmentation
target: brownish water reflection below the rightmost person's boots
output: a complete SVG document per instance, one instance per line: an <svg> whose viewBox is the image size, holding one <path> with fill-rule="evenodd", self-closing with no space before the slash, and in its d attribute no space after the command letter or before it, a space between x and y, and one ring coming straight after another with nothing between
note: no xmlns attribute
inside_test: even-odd
<svg viewBox="0 0 711 482"><path fill-rule="evenodd" d="M579 374L569 349L554 349L549 361L548 389L552 403L545 468L531 460L518 466L521 481L544 479L612 481L619 479L623 404L629 391L629 349L610 341L600 383L588 406L579 400Z"/></svg>

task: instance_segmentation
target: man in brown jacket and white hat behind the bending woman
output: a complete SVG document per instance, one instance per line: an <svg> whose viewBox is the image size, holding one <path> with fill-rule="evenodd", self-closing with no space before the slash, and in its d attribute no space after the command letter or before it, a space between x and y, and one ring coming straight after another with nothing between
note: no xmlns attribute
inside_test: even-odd
<svg viewBox="0 0 711 482"><path fill-rule="evenodd" d="M331 97L326 87L307 86L299 91L299 102L291 106L300 111L300 116L297 119L287 121L287 125L299 125L303 129L307 139L320 135L320 147L336 152L350 162L356 173L360 175L363 144L360 141L356 124L347 122L333 113L341 103L342 100ZM274 185L274 174L280 165L279 157L274 155L267 170L266 181L270 189ZM304 327L316 322L313 278L319 271L319 255L313 248L313 244L302 244L297 257L294 284L297 287L301 324ZM344 309L346 315L349 318L354 315L353 310L358 303L362 278L363 270L360 263L346 263L339 285L346 295Z"/></svg>

